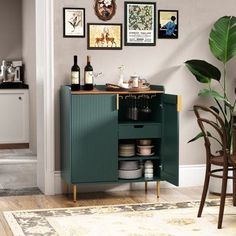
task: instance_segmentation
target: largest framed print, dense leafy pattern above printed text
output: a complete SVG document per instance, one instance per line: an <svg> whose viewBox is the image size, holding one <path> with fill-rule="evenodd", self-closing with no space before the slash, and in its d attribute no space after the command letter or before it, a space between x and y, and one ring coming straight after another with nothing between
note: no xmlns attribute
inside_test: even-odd
<svg viewBox="0 0 236 236"><path fill-rule="evenodd" d="M156 3L125 2L126 46L156 45Z"/></svg>

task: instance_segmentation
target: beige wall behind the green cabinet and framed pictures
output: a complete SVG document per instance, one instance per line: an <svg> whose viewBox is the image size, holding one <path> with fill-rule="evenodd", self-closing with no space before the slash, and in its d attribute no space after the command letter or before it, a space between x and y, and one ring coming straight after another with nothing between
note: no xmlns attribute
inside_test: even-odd
<svg viewBox="0 0 236 236"><path fill-rule="evenodd" d="M124 1L117 0L116 15L108 23L124 23ZM59 114L59 89L69 84L69 73L73 55L79 56L81 69L86 56L91 55L92 65L97 72L103 72L98 84L115 83L118 80L118 66L125 65L125 76L133 72L147 78L152 84L161 84L166 93L183 97L180 113L180 164L204 163L201 142L187 144L199 132L192 109L195 103L205 103L197 98L200 84L184 67L184 61L193 58L209 60L218 64L208 48L208 34L212 24L223 15L235 15L234 0L227 4L221 0L173 0L157 1L158 9L179 10L179 39L157 39L155 47L127 47L123 50L87 50L87 38L63 38L63 7L86 8L86 23L103 23L94 13L94 1L61 0L54 1L55 21L55 114ZM234 61L235 64L235 61ZM231 63L232 65L232 63ZM236 68L230 69L230 77L235 78ZM59 169L60 130L59 115L56 115L56 169Z"/></svg>

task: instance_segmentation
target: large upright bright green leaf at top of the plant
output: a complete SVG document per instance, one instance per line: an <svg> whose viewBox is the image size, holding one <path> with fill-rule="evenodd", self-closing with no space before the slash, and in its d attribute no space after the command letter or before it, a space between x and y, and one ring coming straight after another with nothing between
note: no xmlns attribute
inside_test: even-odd
<svg viewBox="0 0 236 236"><path fill-rule="evenodd" d="M213 55L224 64L236 55L236 17L223 16L210 32L209 45Z"/></svg>

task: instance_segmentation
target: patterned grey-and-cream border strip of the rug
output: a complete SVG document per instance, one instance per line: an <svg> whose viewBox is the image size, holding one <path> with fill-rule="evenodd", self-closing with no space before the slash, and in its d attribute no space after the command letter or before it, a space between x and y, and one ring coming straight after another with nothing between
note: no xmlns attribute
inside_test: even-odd
<svg viewBox="0 0 236 236"><path fill-rule="evenodd" d="M13 231L14 235L25 236L24 229L29 224L40 224L48 229L47 235L57 235L55 229L50 225L47 217L75 216L75 215L92 215L116 212L132 212L145 210L167 210L178 208L195 208L199 206L200 201L183 201L183 202L154 202L154 203L135 203L135 204L117 204L117 205L100 205L100 206L82 206L82 207L64 207L64 208L48 208L48 209L29 209L17 211L3 211L3 215ZM206 200L206 207L219 206L219 199ZM227 198L225 205L232 204L232 198ZM23 218L23 220L22 220ZM33 222L33 223L32 223ZM34 235L34 234L30 234ZM35 235L44 235L35 234Z"/></svg>

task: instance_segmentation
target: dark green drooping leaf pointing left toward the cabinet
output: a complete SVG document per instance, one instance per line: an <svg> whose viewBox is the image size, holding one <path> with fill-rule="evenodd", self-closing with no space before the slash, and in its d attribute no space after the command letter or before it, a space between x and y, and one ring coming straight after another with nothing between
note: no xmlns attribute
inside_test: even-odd
<svg viewBox="0 0 236 236"><path fill-rule="evenodd" d="M211 79L220 80L221 73L219 69L206 61L188 60L185 64L200 83L209 83Z"/></svg>

